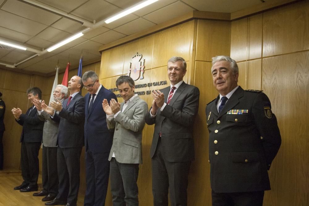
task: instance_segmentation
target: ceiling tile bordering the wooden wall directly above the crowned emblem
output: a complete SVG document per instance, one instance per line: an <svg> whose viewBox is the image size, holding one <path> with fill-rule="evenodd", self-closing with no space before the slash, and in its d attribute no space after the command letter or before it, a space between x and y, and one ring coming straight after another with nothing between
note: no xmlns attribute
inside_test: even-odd
<svg viewBox="0 0 309 206"><path fill-rule="evenodd" d="M139 19L136 19L136 20L131 21L129 23L126 23L125 25L117 27L114 30L117 31L117 32L121 32L123 34L126 34L126 35L130 35L130 34L142 31L146 28L152 27L154 25L156 25L156 24L154 24L154 23L152 23L152 22L150 22L146 19L139 18Z"/></svg>

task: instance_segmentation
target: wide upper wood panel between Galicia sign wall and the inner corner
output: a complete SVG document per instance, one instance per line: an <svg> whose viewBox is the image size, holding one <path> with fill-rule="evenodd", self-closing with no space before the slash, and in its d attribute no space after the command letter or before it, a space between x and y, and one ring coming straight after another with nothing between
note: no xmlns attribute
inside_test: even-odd
<svg viewBox="0 0 309 206"><path fill-rule="evenodd" d="M218 55L230 55L231 22L198 20L196 61L212 61Z"/></svg>

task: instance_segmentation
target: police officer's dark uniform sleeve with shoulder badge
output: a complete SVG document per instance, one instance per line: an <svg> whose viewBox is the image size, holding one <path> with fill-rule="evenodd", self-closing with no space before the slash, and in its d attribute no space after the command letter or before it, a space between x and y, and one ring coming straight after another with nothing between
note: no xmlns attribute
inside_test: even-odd
<svg viewBox="0 0 309 206"><path fill-rule="evenodd" d="M265 151L265 159L268 170L281 145L281 135L277 124L277 118L271 111L271 104L264 93L256 97L252 113L256 126L260 132L261 141Z"/></svg>

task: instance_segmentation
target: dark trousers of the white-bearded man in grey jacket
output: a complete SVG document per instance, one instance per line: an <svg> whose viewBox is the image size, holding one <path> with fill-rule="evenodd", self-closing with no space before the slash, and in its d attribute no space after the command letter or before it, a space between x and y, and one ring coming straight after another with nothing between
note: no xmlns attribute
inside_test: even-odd
<svg viewBox="0 0 309 206"><path fill-rule="evenodd" d="M51 196L58 194L57 147L42 149L42 186Z"/></svg>

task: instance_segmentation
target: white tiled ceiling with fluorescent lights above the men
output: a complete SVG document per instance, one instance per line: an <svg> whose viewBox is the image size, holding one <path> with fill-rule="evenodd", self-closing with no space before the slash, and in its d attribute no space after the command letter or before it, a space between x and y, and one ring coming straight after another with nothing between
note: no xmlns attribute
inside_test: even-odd
<svg viewBox="0 0 309 206"><path fill-rule="evenodd" d="M99 22L107 19L141 0L32 1L93 23L94 20ZM262 0L159 0L133 14L92 29L84 36L52 52L31 58L16 68L47 74L55 71L58 61L60 68L64 69L69 60L71 67L77 67L82 53L83 61L100 60L101 55L98 52L100 46L190 11L231 13L262 2ZM21 0L0 0L0 39L2 40L42 51L85 28L87 27L81 23L26 4ZM18 64L35 54L0 44L0 63ZM4 67L0 64L0 68Z"/></svg>

